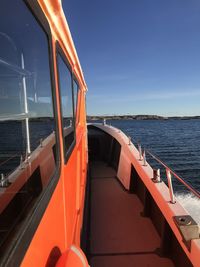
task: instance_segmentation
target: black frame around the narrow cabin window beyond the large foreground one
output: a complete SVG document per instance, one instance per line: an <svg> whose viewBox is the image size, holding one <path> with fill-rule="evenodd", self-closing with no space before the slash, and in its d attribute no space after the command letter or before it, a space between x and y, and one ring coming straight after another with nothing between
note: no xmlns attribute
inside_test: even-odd
<svg viewBox="0 0 200 267"><path fill-rule="evenodd" d="M73 142L71 143L69 149L67 151L65 151L65 138L64 138L64 123L63 123L63 112L62 112L62 96L61 96L61 86L60 86L60 73L59 73L59 62L58 62L58 56L61 57L61 59L63 60L64 64L66 65L66 67L68 68L69 72L70 72L70 77L71 77L71 89L72 89L72 110L73 110L73 126L74 126L74 139ZM63 52L63 49L61 48L60 44L58 41L56 41L56 66L57 66L57 77L58 77L58 88L59 88L59 98L60 98L60 114L61 114L61 127L62 127L62 145L63 145L63 153L64 153L64 164L67 164L73 150L74 147L76 146L76 114L75 114L75 110L74 110L74 86L73 86L73 70L72 67L65 55L65 53Z"/></svg>

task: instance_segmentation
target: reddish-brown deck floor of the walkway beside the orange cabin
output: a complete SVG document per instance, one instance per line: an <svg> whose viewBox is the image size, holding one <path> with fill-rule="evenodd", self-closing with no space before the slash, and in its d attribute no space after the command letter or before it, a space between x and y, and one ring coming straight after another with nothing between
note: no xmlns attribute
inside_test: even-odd
<svg viewBox="0 0 200 267"><path fill-rule="evenodd" d="M93 267L174 266L157 253L160 237L142 204L124 190L105 163L91 166L90 265Z"/></svg>

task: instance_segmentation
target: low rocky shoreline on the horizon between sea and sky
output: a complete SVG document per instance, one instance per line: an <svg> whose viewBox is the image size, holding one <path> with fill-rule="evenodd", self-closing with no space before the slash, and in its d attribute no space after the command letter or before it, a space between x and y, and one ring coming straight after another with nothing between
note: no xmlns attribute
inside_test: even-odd
<svg viewBox="0 0 200 267"><path fill-rule="evenodd" d="M172 116L164 117L158 115L113 115L113 116L87 116L88 121L96 120L194 120L200 119L200 116Z"/></svg>

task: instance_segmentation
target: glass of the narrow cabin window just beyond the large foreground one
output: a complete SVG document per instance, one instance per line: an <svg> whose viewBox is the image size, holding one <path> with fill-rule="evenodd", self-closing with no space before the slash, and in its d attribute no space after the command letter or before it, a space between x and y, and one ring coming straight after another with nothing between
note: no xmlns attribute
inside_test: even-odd
<svg viewBox="0 0 200 267"><path fill-rule="evenodd" d="M74 96L72 72L66 60L60 53L57 55L58 76L61 97L61 113L63 125L63 145L65 162L75 145L75 127L74 127Z"/></svg>

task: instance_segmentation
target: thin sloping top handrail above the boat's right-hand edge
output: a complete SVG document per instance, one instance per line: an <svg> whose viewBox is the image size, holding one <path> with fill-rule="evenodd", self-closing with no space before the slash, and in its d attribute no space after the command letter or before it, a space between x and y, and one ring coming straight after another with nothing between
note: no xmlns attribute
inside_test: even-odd
<svg viewBox="0 0 200 267"><path fill-rule="evenodd" d="M178 176L169 166L167 166L164 162L162 162L161 159L159 159L157 156L153 155L149 150L146 150L146 153L149 154L153 159L155 159L158 163L160 163L166 170L170 171L173 176L179 180L187 189L189 189L196 197L200 198L200 192L196 189L194 189L191 185L189 185L187 182L185 182L180 176Z"/></svg>

